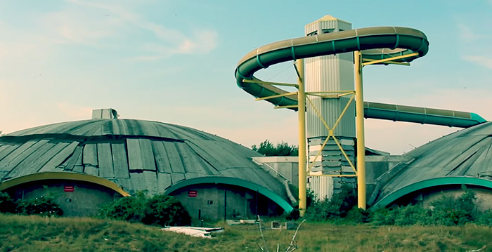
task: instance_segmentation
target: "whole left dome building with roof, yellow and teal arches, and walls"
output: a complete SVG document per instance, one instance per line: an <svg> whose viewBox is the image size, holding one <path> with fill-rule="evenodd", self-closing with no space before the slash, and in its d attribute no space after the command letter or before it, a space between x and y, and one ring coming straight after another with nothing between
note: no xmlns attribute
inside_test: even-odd
<svg viewBox="0 0 492 252"><path fill-rule="evenodd" d="M174 195L192 218L292 210L283 179L247 147L185 126L116 119L114 110L94 114L1 136L0 190L15 199L51 194L65 215L91 215L138 191Z"/></svg>

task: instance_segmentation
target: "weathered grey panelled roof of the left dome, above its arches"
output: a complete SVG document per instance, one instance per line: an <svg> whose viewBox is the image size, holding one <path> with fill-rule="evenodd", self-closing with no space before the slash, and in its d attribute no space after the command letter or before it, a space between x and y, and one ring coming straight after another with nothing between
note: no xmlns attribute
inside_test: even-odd
<svg viewBox="0 0 492 252"><path fill-rule="evenodd" d="M84 173L130 193L155 194L183 180L233 178L287 199L280 180L252 161L256 156L247 147L185 126L134 119L70 121L1 136L0 182L42 172Z"/></svg>

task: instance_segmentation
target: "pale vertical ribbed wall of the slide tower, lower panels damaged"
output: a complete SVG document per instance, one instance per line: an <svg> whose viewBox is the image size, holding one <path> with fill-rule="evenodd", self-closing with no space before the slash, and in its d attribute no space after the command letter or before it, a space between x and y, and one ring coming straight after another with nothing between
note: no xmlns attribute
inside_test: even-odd
<svg viewBox="0 0 492 252"><path fill-rule="evenodd" d="M311 22L305 26L305 35L313 36L331 32L341 32L351 29L350 22L333 18L330 15ZM306 58L304 85L306 92L316 91L354 91L354 56L353 53L339 53L337 55L326 55L314 58ZM320 112L321 116L332 127L337 121L344 107L349 102L350 96L341 98L320 98L309 95L309 98ZM308 138L308 153L310 161L321 149L328 129L318 117L316 110L307 102L306 105L306 137ZM342 120L335 128L334 135L339 140L345 152L355 164L355 103L349 105ZM330 139L323 148L321 157L313 164L311 173L352 173L349 162L343 156L334 140ZM342 183L354 183L354 178L331 178L326 176L313 176L309 178L309 188L319 198L330 198L333 191L339 189Z"/></svg>

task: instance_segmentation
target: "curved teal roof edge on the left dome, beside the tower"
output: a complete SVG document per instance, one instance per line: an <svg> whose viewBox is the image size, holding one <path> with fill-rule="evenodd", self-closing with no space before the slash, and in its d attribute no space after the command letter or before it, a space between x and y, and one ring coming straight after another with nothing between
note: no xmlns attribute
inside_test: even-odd
<svg viewBox="0 0 492 252"><path fill-rule="evenodd" d="M181 180L179 183L171 185L164 191L164 194L171 194L171 192L179 190L188 185L198 185L198 184L226 184L226 185L237 185L240 187L245 187L247 189L257 191L260 194L263 194L264 196L268 197L268 199L271 199L273 202L278 204L278 206L283 208L283 210L286 213L290 213L290 211L294 209L292 208L292 206L290 206L290 204L285 199L283 199L283 197L280 197L280 195L276 194L275 192L272 192L271 190L268 190L265 187L262 187L261 185L257 185L247 180L242 180L240 178L229 178L229 177L219 177L219 176L190 178L188 180Z"/></svg>

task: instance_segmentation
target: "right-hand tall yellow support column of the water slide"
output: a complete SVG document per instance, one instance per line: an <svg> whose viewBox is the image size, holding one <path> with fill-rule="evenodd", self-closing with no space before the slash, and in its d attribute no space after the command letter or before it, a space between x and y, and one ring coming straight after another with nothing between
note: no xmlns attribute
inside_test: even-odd
<svg viewBox="0 0 492 252"><path fill-rule="evenodd" d="M362 54L354 51L356 81L356 128L357 128L357 198L358 208L365 209L365 140L364 100L362 93Z"/></svg>

